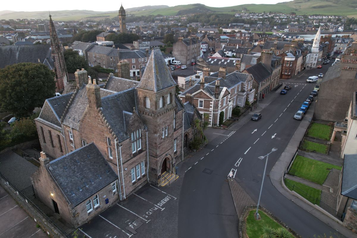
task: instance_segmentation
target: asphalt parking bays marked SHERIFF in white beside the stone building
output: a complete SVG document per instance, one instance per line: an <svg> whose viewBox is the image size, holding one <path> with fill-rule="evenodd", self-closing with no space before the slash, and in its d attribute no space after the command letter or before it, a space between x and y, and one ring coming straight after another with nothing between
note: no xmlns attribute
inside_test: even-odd
<svg viewBox="0 0 357 238"><path fill-rule="evenodd" d="M168 229L167 224L177 223L178 199L165 188L146 184L127 201L116 203L81 226L80 231L89 238L176 236L177 230Z"/></svg>

